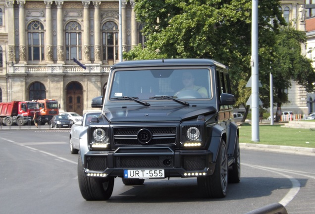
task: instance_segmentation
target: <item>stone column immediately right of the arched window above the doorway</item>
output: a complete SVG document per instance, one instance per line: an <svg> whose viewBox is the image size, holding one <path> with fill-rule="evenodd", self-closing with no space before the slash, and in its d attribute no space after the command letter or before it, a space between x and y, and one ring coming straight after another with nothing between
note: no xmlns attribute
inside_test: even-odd
<svg viewBox="0 0 315 214"><path fill-rule="evenodd" d="M90 1L82 1L83 4L83 63L91 63L91 47L90 47Z"/></svg>

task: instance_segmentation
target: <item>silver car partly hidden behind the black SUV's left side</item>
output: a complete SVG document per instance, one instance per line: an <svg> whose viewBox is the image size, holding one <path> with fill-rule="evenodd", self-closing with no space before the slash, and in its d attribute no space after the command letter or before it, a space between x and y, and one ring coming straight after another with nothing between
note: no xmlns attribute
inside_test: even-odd
<svg viewBox="0 0 315 214"><path fill-rule="evenodd" d="M78 154L80 150L80 141L88 143L87 130L93 117L99 117L101 112L89 112L83 114L83 120L75 122L70 131L70 153Z"/></svg>

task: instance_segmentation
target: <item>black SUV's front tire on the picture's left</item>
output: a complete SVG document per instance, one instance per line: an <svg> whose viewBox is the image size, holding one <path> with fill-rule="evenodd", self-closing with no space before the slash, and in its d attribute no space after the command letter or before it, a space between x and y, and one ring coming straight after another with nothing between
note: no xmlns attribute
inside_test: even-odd
<svg viewBox="0 0 315 214"><path fill-rule="evenodd" d="M114 188L114 177L88 177L82 167L81 155L78 160L78 181L81 195L87 201L107 200Z"/></svg>

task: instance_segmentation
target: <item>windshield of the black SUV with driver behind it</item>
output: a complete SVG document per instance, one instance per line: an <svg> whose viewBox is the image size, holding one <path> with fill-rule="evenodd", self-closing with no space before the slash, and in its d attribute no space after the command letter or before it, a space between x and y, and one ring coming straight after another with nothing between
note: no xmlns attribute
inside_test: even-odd
<svg viewBox="0 0 315 214"><path fill-rule="evenodd" d="M142 100L170 96L178 99L209 99L209 69L160 69L116 71L110 99L132 97ZM152 99L151 99L152 100Z"/></svg>

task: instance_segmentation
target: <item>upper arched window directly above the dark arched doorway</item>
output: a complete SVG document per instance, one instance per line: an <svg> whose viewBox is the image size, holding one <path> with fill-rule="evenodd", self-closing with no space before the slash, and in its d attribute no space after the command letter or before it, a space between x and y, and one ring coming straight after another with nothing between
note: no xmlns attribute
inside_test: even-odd
<svg viewBox="0 0 315 214"><path fill-rule="evenodd" d="M76 21L71 21L66 25L66 60L76 58L82 60L82 32L81 25Z"/></svg>

